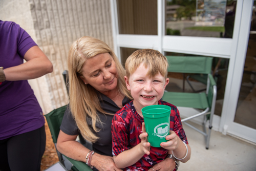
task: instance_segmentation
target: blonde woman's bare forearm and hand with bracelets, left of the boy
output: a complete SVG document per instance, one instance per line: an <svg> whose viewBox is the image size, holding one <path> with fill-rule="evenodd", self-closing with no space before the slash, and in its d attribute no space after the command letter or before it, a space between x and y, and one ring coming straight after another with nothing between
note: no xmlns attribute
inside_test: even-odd
<svg viewBox="0 0 256 171"><path fill-rule="evenodd" d="M76 141L77 135L68 135L63 133L61 130L59 132L57 140L58 151L77 161L86 162L86 156L90 152L90 149L84 147L82 144ZM118 169L113 161L113 157L103 156L97 153L91 158L91 165L96 167L99 171L104 170L120 170Z"/></svg>

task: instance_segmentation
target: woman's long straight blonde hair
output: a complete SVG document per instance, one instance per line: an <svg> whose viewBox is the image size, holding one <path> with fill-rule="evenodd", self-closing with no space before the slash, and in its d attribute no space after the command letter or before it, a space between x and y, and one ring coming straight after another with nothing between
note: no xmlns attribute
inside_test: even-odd
<svg viewBox="0 0 256 171"><path fill-rule="evenodd" d="M116 57L115 53L105 42L94 37L84 36L73 42L69 50L68 56L68 79L69 79L69 99L70 110L76 121L78 129L84 139L96 142L97 137L90 129L87 118L92 119L92 129L99 132L96 122L102 124L97 115L97 111L103 114L109 114L102 110L98 99L98 92L90 84L84 84L80 77L82 75L82 67L87 59L92 58L101 53L109 53L115 63L119 74L117 89L120 94L132 99L130 92L126 89L124 76L125 70ZM114 114L109 114L114 115Z"/></svg>

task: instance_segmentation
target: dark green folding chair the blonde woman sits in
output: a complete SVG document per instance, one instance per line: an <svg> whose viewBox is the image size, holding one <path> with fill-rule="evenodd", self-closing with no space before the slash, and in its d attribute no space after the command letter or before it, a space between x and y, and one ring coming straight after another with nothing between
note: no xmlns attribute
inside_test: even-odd
<svg viewBox="0 0 256 171"><path fill-rule="evenodd" d="M63 119L63 116L64 116L64 113L66 111L66 108L67 108L67 105L65 106L62 106L58 109L55 109L53 110L52 112L50 112L49 114L45 115L46 117L46 120L47 120L47 123L48 123L48 126L49 126L49 129L50 129L50 132L52 134L52 139L53 139L53 143L55 145L55 148L56 148L56 143L57 143L57 138L58 138L58 135L59 135L59 127L60 127L60 124L62 122L62 119ZM56 151L57 151L57 155L59 157L59 161L61 162L61 164L63 164L65 166L65 162L64 162L64 159L63 159L63 156L56 148ZM64 156L65 158L67 158L67 160L69 160L73 166L71 167L71 169L73 171L91 171L92 169L86 164L86 163L83 163L81 161L76 161L76 160L73 160L67 156Z"/></svg>

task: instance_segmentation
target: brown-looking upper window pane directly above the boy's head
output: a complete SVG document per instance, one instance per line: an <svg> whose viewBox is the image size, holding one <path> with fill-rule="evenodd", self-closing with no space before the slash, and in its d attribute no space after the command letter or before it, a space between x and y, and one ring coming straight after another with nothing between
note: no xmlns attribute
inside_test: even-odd
<svg viewBox="0 0 256 171"><path fill-rule="evenodd" d="M157 35L157 0L117 0L119 34Z"/></svg>

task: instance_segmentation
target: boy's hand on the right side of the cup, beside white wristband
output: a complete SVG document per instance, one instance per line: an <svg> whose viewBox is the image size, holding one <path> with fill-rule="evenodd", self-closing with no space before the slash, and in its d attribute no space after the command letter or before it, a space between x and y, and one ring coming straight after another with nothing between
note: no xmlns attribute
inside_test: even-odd
<svg viewBox="0 0 256 171"><path fill-rule="evenodd" d="M178 148L180 139L174 131L170 131L170 135L167 135L165 139L167 140L167 142L161 142L161 147L168 150L175 150L176 148Z"/></svg>

